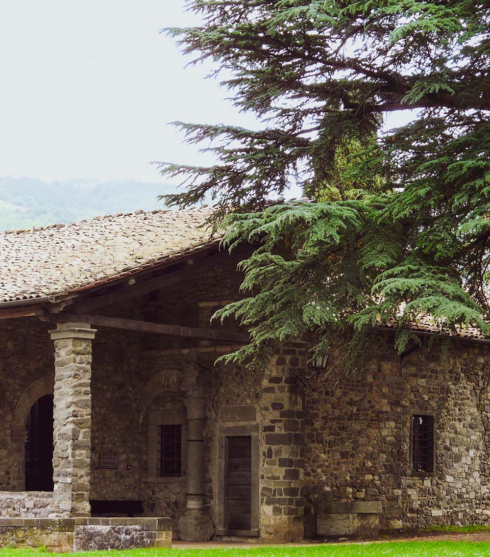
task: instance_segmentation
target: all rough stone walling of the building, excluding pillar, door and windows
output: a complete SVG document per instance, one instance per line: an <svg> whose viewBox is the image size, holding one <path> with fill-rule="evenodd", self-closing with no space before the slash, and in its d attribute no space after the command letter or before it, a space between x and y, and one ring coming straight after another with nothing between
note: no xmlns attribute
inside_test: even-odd
<svg viewBox="0 0 490 557"><path fill-rule="evenodd" d="M105 313L204 326L217 307L239 296L234 264ZM26 506L32 497L10 492L23 488L22 420L25 426L30 404L47 394L54 379L50 328L33 318L0 321L0 489L9 492L0 495L3 516L40 516L46 508L33 511ZM444 356L434 345L400 365L389 336L376 335L364 373L319 380L303 400L295 372L305 370L307 345L286 346L266 370L251 371L215 367L225 350L219 344L97 331L91 499L141 500L146 516L170 516L177 527L187 478L151 476L150 412L185 406L199 377L207 395L205 502L218 529L220 447L227 431L257 436L263 539L301 538L303 524L307 537L315 535L319 502L381 501L383 527L490 520L488 346L462 341ZM410 421L417 412L434 414L436 423L435 473L425 477L410 470ZM107 454L117 455L117 469L100 466Z"/></svg>

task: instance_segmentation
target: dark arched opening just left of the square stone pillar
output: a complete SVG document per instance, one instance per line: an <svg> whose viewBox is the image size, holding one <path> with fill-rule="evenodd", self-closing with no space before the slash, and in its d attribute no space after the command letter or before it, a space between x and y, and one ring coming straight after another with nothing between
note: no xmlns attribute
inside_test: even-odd
<svg viewBox="0 0 490 557"><path fill-rule="evenodd" d="M26 491L53 491L53 395L36 400L26 420Z"/></svg>

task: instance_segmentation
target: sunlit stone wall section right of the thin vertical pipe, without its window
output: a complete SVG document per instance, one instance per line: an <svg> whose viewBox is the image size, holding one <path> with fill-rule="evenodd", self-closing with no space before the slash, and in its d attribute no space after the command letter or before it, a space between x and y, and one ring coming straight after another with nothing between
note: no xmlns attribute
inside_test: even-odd
<svg viewBox="0 0 490 557"><path fill-rule="evenodd" d="M490 414L488 346L460 343L447 356L435 351L407 358L403 367L403 445L414 407L435 416L434 477L403 481L401 520L470 524L489 520ZM402 459L406 470L406 459Z"/></svg>

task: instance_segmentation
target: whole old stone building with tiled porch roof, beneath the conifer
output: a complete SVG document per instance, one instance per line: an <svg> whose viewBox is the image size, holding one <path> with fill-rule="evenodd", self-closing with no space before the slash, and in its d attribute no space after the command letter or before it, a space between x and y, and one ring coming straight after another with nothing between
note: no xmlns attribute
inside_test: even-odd
<svg viewBox="0 0 490 557"><path fill-rule="evenodd" d="M168 516L188 540L488 522L488 341L400 357L376 330L340 382L301 341L215 365L247 336L209 323L243 256L209 211L0 237L0 515Z"/></svg>

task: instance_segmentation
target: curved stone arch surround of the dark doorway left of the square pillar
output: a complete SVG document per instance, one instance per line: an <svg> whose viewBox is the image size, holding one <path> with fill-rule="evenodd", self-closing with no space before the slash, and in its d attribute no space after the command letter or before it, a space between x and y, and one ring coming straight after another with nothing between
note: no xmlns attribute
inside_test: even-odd
<svg viewBox="0 0 490 557"><path fill-rule="evenodd" d="M13 488L24 491L26 487L25 477L25 443L27 442L26 421L32 405L46 394L53 394L55 387L55 376L45 375L33 381L21 394L17 401L11 429L12 452L16 454L17 467L14 473Z"/></svg>

